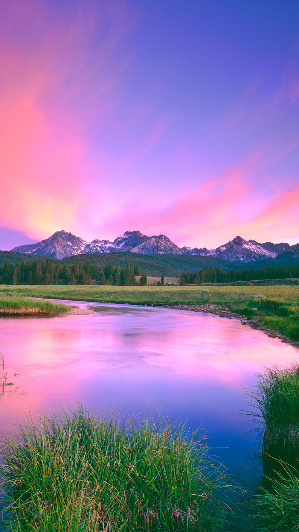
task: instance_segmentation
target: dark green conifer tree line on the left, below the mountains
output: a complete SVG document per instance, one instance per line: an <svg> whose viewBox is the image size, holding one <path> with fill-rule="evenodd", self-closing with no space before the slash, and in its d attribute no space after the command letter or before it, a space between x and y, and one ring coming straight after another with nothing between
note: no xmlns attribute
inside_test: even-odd
<svg viewBox="0 0 299 532"><path fill-rule="evenodd" d="M60 261L44 261L39 257L37 261L0 265L0 284L3 285L90 285L95 282L98 285L128 286L136 284L136 276L141 285L147 284L146 275L142 275L138 264L134 269L128 264L119 270L118 266L106 263L102 269L90 262L67 266Z"/></svg>

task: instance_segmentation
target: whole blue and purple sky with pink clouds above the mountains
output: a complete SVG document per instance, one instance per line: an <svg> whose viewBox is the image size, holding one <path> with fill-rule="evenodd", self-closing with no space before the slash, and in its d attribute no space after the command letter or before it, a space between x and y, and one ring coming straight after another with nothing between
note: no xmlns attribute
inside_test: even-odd
<svg viewBox="0 0 299 532"><path fill-rule="evenodd" d="M0 6L0 249L299 240L297 0Z"/></svg>

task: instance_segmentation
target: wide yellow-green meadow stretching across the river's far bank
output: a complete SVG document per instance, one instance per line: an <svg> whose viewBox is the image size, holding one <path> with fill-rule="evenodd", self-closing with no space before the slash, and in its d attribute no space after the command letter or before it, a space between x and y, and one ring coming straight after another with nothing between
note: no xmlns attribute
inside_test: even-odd
<svg viewBox="0 0 299 532"><path fill-rule="evenodd" d="M299 340L299 286L209 286L203 289L197 286L0 285L0 297L2 294L136 305L217 304L248 319L257 319L260 325L292 340Z"/></svg>

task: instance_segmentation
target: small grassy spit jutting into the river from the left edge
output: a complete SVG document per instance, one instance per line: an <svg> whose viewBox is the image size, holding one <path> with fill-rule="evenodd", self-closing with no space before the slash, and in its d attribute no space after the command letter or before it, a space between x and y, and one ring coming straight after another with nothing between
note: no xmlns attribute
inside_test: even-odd
<svg viewBox="0 0 299 532"><path fill-rule="evenodd" d="M0 293L0 316L1 315L26 315L26 314L57 314L68 312L70 306L51 301L37 301L22 295Z"/></svg>

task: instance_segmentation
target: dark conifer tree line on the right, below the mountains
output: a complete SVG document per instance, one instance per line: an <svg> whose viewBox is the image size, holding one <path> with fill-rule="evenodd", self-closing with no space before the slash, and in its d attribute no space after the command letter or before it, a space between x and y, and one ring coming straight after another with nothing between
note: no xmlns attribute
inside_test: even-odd
<svg viewBox="0 0 299 532"><path fill-rule="evenodd" d="M234 282L263 279L293 279L299 277L299 267L262 268L261 270L230 270L221 268L203 268L198 272L182 272L180 285L199 285L205 282Z"/></svg>

